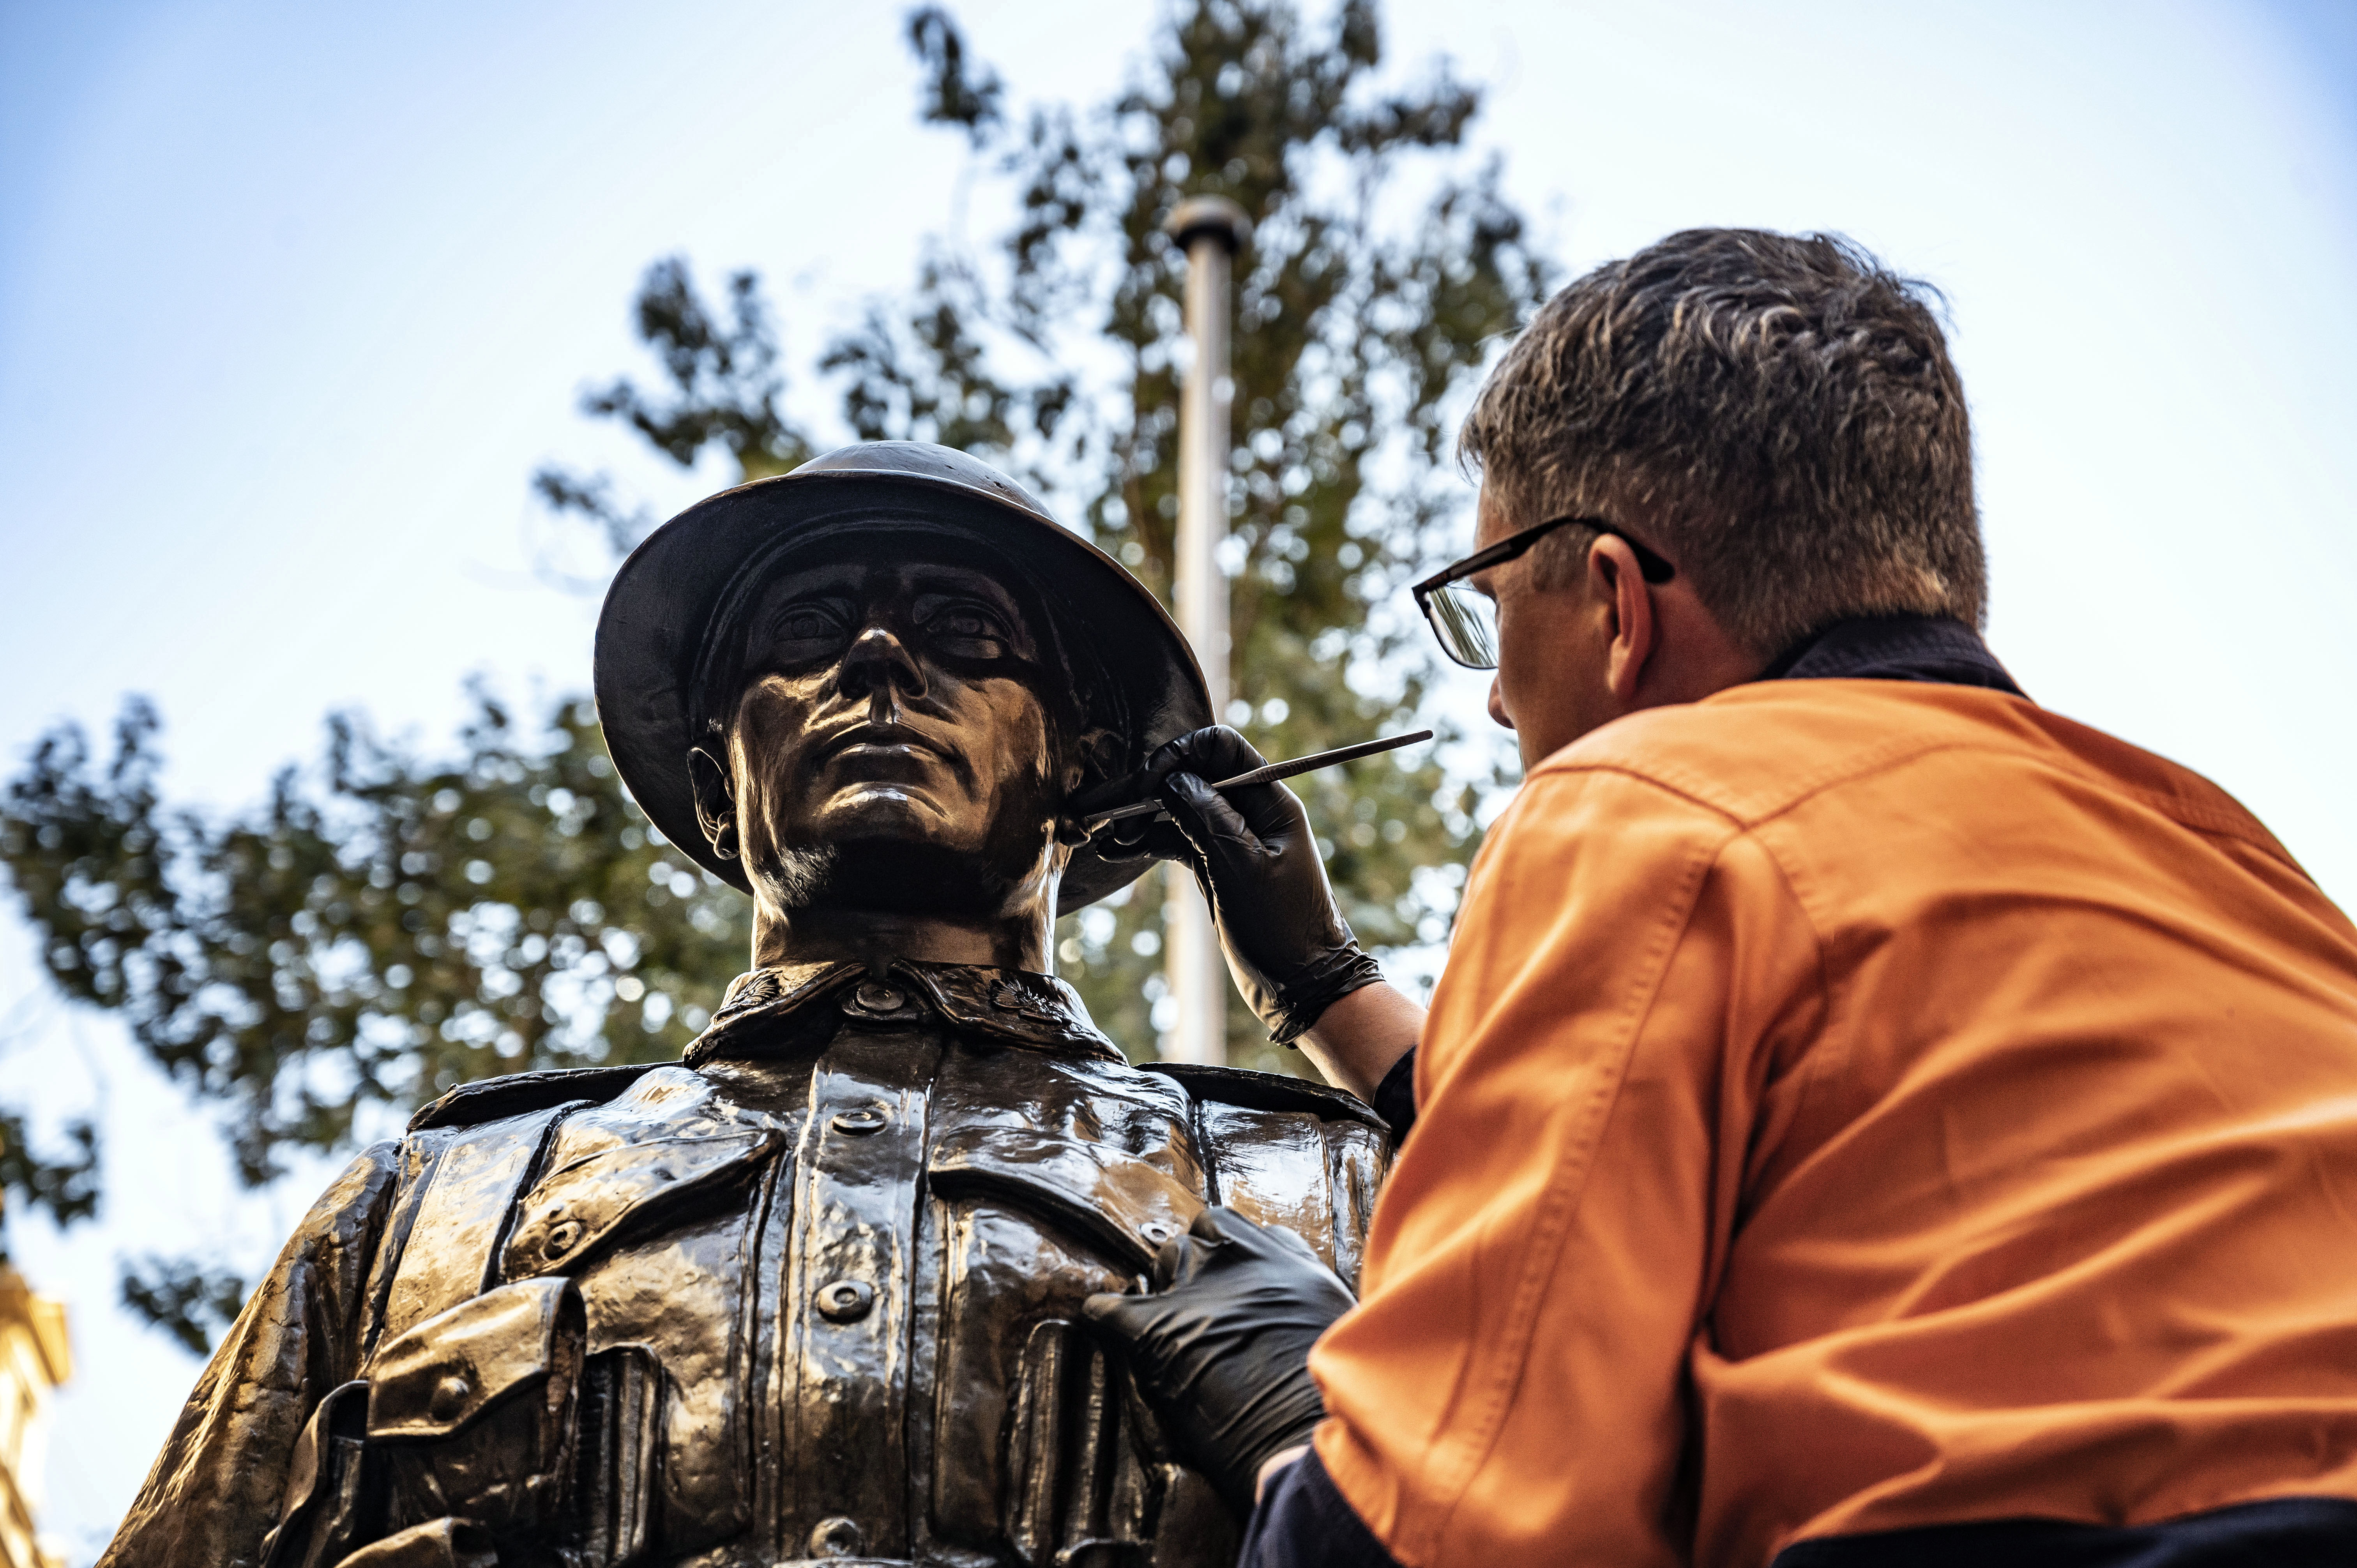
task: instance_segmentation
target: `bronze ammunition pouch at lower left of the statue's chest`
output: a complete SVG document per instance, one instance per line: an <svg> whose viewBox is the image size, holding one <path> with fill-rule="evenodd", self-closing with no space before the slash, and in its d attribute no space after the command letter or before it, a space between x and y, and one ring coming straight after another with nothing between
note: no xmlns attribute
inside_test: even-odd
<svg viewBox="0 0 2357 1568"><path fill-rule="evenodd" d="M264 1568L627 1568L651 1535L662 1370L587 1342L566 1278L387 1342L313 1412Z"/></svg>

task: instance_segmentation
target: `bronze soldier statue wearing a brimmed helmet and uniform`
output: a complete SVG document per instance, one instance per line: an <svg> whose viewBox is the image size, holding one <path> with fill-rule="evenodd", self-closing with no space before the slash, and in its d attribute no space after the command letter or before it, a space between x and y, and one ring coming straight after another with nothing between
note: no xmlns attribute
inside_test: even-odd
<svg viewBox="0 0 2357 1568"><path fill-rule="evenodd" d="M1080 1304L1207 1203L1355 1278L1388 1151L1336 1089L1129 1066L1051 974L1146 865L1075 797L1211 722L1176 627L1014 481L872 443L632 554L596 698L752 971L676 1063L361 1153L106 1563L1233 1561Z"/></svg>

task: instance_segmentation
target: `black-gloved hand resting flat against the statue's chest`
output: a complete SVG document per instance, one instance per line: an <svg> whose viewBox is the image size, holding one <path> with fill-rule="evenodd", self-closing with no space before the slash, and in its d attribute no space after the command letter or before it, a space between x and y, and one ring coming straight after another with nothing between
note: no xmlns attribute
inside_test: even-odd
<svg viewBox="0 0 2357 1568"><path fill-rule="evenodd" d="M1358 1302L1306 1240L1235 1210L1204 1210L1164 1243L1153 1283L1080 1311L1127 1353L1181 1457L1252 1514L1261 1467L1325 1419L1310 1346Z"/></svg>

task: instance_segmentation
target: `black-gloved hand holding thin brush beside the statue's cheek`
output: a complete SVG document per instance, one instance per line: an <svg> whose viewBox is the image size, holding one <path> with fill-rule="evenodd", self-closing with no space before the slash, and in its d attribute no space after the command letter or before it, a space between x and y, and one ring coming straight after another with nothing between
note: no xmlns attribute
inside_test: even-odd
<svg viewBox="0 0 2357 1568"><path fill-rule="evenodd" d="M1195 870L1235 988L1270 1040L1292 1045L1336 1000L1384 979L1384 969L1360 950L1334 903L1301 799L1282 783L1233 795L1211 788L1263 764L1226 724L1178 736L1141 773L1143 792L1162 802L1169 823L1113 823L1105 832L1115 854L1134 849Z"/></svg>

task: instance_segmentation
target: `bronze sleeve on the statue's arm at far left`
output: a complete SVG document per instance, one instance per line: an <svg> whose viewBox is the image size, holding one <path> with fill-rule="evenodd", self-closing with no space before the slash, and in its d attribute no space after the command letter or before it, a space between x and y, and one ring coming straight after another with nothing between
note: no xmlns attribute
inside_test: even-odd
<svg viewBox="0 0 2357 1568"><path fill-rule="evenodd" d="M295 1438L356 1372L368 1266L398 1172L398 1144L351 1160L189 1394L99 1568L255 1563L278 1523Z"/></svg>

